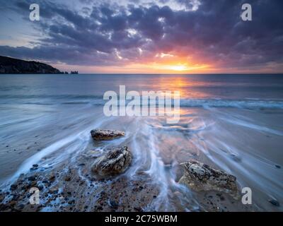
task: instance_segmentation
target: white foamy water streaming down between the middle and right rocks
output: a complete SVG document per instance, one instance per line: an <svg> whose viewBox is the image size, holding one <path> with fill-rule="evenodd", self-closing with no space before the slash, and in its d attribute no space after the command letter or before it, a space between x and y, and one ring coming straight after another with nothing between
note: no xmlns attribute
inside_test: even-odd
<svg viewBox="0 0 283 226"><path fill-rule="evenodd" d="M156 130L156 126L160 128L156 121L137 118L134 124L136 131L131 140L134 162L127 176L139 179L139 171L142 171L149 175L151 184L159 191L158 196L144 210L175 211L176 202L181 206L188 206L185 208L187 211L197 209L197 201L192 197L190 189L175 182L175 167L178 165L175 157L170 165L164 163L161 155L165 150L162 149L160 141L160 133L163 131ZM172 129L171 132L174 131L175 129Z"/></svg>

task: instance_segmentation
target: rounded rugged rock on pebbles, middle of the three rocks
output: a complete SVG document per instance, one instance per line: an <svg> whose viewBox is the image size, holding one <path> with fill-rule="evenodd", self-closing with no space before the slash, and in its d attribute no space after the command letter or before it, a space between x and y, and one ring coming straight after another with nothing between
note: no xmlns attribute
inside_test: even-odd
<svg viewBox="0 0 283 226"><path fill-rule="evenodd" d="M127 146L109 150L93 162L91 171L100 177L113 176L125 172L132 162L132 153Z"/></svg>

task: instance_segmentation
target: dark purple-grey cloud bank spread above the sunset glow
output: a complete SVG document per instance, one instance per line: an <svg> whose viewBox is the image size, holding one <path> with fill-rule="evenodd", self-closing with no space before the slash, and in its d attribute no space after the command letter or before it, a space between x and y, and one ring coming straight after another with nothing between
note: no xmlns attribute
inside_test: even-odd
<svg viewBox="0 0 283 226"><path fill-rule="evenodd" d="M159 0L167 3L167 0ZM192 8L192 1L175 0ZM40 1L44 33L39 44L28 47L1 46L11 57L42 59L67 64L115 65L146 61L157 52L188 54L222 67L245 67L283 62L283 1L249 1L253 21L240 18L246 1L202 0L196 11L175 11L168 6L142 6L142 1L91 4L75 11L63 4ZM136 4L131 4L136 3ZM11 6L25 13L30 1ZM23 14L24 15L24 14ZM141 56L137 48L144 50ZM123 57L117 59L117 52Z"/></svg>

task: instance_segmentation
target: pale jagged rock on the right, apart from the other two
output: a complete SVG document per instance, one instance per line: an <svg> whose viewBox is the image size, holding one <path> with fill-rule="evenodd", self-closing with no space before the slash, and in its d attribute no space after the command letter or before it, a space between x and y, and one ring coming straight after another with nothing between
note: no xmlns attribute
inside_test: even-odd
<svg viewBox="0 0 283 226"><path fill-rule="evenodd" d="M238 198L236 177L224 171L213 169L209 165L190 160L180 164L183 167L183 177L179 183L185 184L195 191L221 191Z"/></svg>

